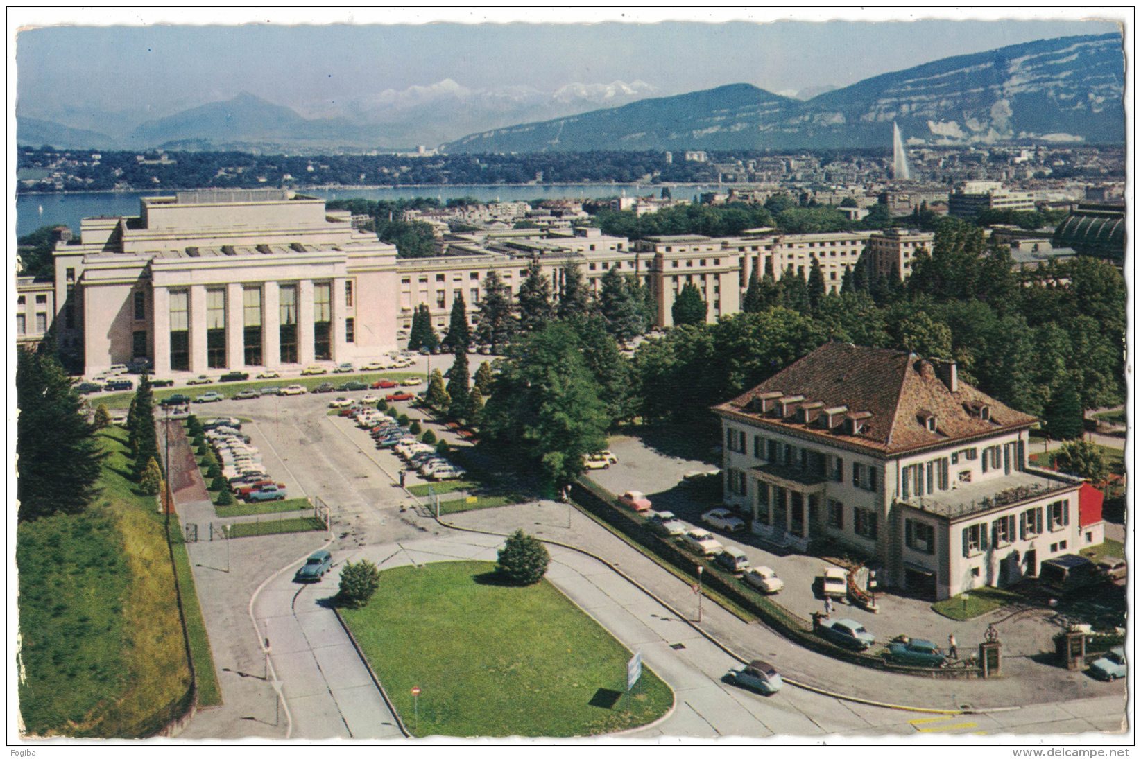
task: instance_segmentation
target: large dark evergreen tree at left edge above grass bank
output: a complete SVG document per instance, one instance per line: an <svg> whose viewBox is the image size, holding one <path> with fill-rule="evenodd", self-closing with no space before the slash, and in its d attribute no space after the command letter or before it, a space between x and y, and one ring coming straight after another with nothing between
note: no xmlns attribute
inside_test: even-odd
<svg viewBox="0 0 1141 759"><path fill-rule="evenodd" d="M105 454L80 414L81 402L57 359L16 350L16 498L22 522L79 513L96 496Z"/></svg>

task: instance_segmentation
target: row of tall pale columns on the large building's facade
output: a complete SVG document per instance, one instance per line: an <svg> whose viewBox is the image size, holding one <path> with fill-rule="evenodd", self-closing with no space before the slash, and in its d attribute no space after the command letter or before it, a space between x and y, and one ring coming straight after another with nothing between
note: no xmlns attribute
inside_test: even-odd
<svg viewBox="0 0 1141 759"><path fill-rule="evenodd" d="M331 280L330 352L338 360L347 352L345 342L345 319L348 308L345 303L345 278ZM284 283L297 286L297 364L307 366L315 360L314 346L314 281L301 279ZM244 291L250 285L229 283L226 291L226 368L245 367L245 310ZM282 283L266 281L261 289L261 364L257 366L280 367L281 361L281 286ZM170 373L170 289L154 287L153 299L153 359L156 375ZM173 289L184 289L176 287ZM205 373L210 367L207 357L207 289L205 285L191 285L189 292L189 370Z"/></svg>

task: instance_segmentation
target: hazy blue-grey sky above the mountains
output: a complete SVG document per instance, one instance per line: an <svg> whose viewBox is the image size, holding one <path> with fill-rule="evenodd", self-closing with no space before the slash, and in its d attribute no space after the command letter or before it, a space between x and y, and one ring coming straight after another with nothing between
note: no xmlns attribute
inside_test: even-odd
<svg viewBox="0 0 1141 759"><path fill-rule="evenodd" d="M307 113L445 79L471 89L642 80L661 95L748 82L792 93L953 55L1117 31L1106 22L72 26L21 32L17 96L163 115L249 91Z"/></svg>

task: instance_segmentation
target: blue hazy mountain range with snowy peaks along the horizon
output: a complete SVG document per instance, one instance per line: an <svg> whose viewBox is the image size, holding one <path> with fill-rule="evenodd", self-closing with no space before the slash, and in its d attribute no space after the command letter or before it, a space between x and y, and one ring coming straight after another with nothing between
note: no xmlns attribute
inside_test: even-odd
<svg viewBox="0 0 1141 759"><path fill-rule="evenodd" d="M73 148L361 152L443 144L448 153L794 149L1006 140L1120 144L1119 34L1039 40L942 58L844 88L786 97L752 84L670 97L646 82L470 89L447 79L298 109L248 92L159 117L17 111L17 141ZM133 115L131 115L133 114ZM466 137L459 137L467 134Z"/></svg>

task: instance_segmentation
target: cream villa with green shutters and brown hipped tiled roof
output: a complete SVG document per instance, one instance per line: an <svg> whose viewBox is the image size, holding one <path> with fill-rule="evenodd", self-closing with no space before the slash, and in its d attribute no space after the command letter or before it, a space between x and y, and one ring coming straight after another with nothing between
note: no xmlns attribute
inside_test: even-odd
<svg viewBox="0 0 1141 759"><path fill-rule="evenodd" d="M881 585L933 599L1037 574L1086 547L1082 480L1027 465L1037 422L954 361L825 343L713 407L725 499L770 544L844 544Z"/></svg>

